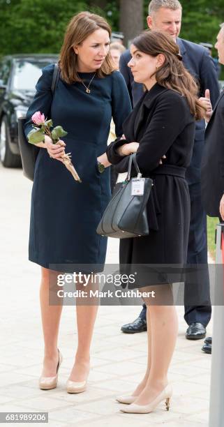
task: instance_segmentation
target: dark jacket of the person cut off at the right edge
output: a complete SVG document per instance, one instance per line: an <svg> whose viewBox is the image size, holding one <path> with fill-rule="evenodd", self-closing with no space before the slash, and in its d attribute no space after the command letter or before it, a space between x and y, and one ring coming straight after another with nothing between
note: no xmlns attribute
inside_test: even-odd
<svg viewBox="0 0 224 427"><path fill-rule="evenodd" d="M224 194L224 91L205 132L201 181L205 211L209 216L220 216L219 204Z"/></svg>

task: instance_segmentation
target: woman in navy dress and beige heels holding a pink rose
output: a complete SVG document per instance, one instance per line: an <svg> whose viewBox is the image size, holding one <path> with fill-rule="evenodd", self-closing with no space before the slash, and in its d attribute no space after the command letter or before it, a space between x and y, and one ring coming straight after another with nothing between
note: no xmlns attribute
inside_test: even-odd
<svg viewBox="0 0 224 427"><path fill-rule="evenodd" d="M117 136L122 135L122 123L130 112L126 84L112 67L110 34L102 17L88 12L75 15L61 48L61 74L54 96L52 64L43 69L27 112L26 134L36 111L68 132L61 142L63 147L53 145L47 136L45 143L38 144L31 198L29 260L39 264L42 271L40 306L45 357L41 389L57 387L61 364L57 338L62 306L49 304L49 283L57 283L58 272L74 271L73 264L80 265L78 270L86 273L101 271L105 262L107 240L96 234L96 227L110 199L107 137L112 118ZM64 152L72 154L82 183L75 181L61 162ZM90 287L91 283L84 290ZM77 283L76 289L82 290L82 284ZM67 382L69 393L86 389L97 304L77 304L76 312L78 343Z"/></svg>

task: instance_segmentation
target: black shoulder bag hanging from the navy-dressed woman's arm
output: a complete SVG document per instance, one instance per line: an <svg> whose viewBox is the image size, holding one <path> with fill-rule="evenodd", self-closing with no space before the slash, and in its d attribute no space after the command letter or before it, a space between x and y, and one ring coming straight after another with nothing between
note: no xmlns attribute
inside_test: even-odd
<svg viewBox="0 0 224 427"><path fill-rule="evenodd" d="M54 73L52 76L52 96L54 96L55 88L57 87L57 82L60 77L60 69L57 63L54 64ZM19 146L20 146L20 156L22 160L22 170L25 177L33 181L34 177L34 168L36 163L36 158L38 156L39 148L34 144L30 144L27 141L27 137L24 133L24 124L27 121L27 117L19 117L18 119L18 137L19 137Z"/></svg>

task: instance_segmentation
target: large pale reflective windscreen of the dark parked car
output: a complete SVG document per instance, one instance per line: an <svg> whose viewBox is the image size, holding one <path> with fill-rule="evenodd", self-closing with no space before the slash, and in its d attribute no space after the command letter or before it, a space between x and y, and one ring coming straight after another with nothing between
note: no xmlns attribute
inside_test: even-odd
<svg viewBox="0 0 224 427"><path fill-rule="evenodd" d="M16 61L12 87L16 90L35 90L41 70L51 62Z"/></svg>

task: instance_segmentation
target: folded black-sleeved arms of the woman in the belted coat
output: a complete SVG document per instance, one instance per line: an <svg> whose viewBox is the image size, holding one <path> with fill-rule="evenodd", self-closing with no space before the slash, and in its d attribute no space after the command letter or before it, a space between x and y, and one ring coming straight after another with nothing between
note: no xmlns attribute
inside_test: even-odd
<svg viewBox="0 0 224 427"><path fill-rule="evenodd" d="M188 105L184 99L175 93L170 91L158 100L154 115L140 139L136 151L137 164L143 174L148 174L160 165L161 158L186 126L186 114L189 114ZM128 170L128 157L130 155L128 147L126 147L128 144L133 144L133 142L119 138L107 148L107 157L110 163L116 165L117 172ZM135 146L130 145L130 147L133 149ZM126 151L127 154L125 154Z"/></svg>

